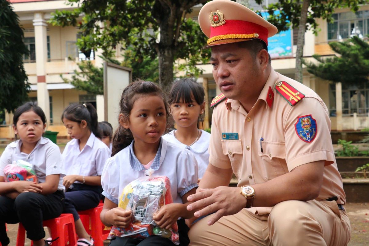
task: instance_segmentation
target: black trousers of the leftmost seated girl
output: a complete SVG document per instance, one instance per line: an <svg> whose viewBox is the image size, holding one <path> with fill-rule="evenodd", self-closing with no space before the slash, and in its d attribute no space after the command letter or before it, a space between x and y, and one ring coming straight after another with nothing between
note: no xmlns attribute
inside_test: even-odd
<svg viewBox="0 0 369 246"><path fill-rule="evenodd" d="M15 199L0 196L0 242L8 245L5 223L22 222L27 238L40 240L45 238L42 221L61 215L64 207L64 192L42 195L34 192L21 193ZM14 242L15 243L15 242Z"/></svg>

